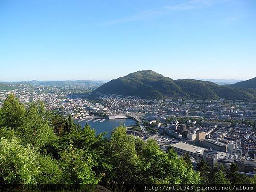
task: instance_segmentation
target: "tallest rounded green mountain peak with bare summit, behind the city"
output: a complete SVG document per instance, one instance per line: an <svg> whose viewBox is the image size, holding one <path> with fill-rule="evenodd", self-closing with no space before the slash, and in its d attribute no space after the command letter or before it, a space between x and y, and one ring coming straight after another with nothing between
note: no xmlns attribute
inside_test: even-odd
<svg viewBox="0 0 256 192"><path fill-rule="evenodd" d="M163 77L151 70L138 71L109 81L94 92L140 96L151 99L163 99L165 96L184 96L181 88L171 78Z"/></svg>

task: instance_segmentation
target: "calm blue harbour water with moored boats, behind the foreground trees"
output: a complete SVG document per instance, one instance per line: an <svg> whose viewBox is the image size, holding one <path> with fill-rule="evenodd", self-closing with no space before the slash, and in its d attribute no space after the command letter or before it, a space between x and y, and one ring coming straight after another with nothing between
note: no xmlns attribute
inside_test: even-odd
<svg viewBox="0 0 256 192"><path fill-rule="evenodd" d="M93 119L94 120L94 119ZM93 122L93 120L89 122L81 121L78 122L78 120L75 120L75 122L82 126L82 128L86 125L90 125L91 128L94 128L96 131L96 134L108 132L105 137L109 137L113 128L118 127L121 123L123 123L125 126L134 125L136 124L136 121L133 119L106 119L103 122L96 121Z"/></svg>

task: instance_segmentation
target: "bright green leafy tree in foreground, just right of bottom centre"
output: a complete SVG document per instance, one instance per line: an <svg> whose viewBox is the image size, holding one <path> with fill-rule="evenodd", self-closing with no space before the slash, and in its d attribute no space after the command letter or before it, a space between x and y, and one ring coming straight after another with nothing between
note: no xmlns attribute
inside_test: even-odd
<svg viewBox="0 0 256 192"><path fill-rule="evenodd" d="M138 183L191 184L200 181L192 166L187 166L172 149L166 153L162 151L153 139L145 143L140 157L142 166L138 169Z"/></svg>

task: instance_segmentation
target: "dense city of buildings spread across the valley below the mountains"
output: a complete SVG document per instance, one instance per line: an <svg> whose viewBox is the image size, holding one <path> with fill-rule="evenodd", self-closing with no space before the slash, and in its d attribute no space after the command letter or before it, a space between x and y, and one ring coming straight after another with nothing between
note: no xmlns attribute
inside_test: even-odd
<svg viewBox="0 0 256 192"><path fill-rule="evenodd" d="M25 105L43 101L48 110L66 117L71 114L77 122L131 118L137 123L126 127L127 134L145 141L153 138L163 151L171 147L180 157L188 153L194 168L204 159L227 171L236 163L240 174L256 174L256 102L141 99L16 84L13 90L0 91L0 106L11 93Z"/></svg>

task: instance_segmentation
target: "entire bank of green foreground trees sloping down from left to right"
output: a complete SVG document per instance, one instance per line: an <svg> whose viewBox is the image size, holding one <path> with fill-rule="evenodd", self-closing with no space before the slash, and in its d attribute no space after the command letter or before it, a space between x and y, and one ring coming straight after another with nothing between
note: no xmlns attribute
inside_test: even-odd
<svg viewBox="0 0 256 192"><path fill-rule="evenodd" d="M201 160L196 172L188 154L179 158L172 149L165 153L153 139L127 135L123 125L110 139L96 136L89 125L81 128L71 116L47 111L42 102L25 109L10 95L0 119L1 184L256 183L239 175L236 164L225 174L223 167Z"/></svg>

